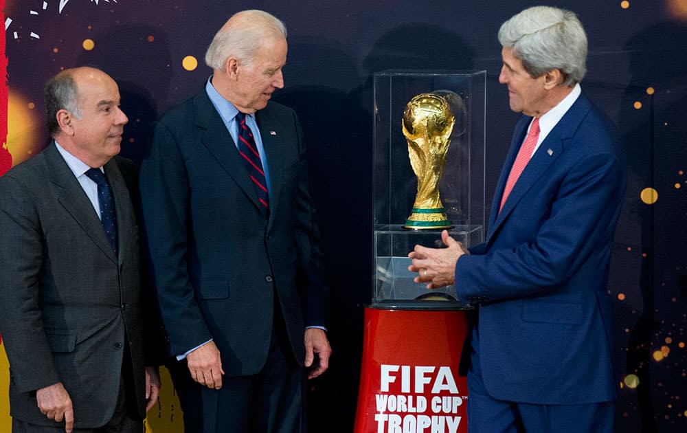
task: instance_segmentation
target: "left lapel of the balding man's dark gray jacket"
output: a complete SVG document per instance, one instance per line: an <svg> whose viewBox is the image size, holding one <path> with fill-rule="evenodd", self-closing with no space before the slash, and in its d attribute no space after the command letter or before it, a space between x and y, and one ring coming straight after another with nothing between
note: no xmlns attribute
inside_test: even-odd
<svg viewBox="0 0 687 433"><path fill-rule="evenodd" d="M102 224L98 215L95 214L91 201L54 143L45 149L45 161L49 168L50 181L56 186L57 200L82 227L93 243L98 245L110 260L117 263L115 252L113 252L112 246L107 240L104 230L102 230Z"/></svg>

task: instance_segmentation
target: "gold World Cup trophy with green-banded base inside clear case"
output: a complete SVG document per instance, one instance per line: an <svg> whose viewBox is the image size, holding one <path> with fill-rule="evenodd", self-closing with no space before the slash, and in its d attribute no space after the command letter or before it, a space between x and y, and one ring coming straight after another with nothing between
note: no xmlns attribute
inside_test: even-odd
<svg viewBox="0 0 687 433"><path fill-rule="evenodd" d="M439 180L446 165L455 116L446 99L420 93L403 112L403 135L410 165L418 177L418 193L403 228L437 230L451 227L439 197Z"/></svg>

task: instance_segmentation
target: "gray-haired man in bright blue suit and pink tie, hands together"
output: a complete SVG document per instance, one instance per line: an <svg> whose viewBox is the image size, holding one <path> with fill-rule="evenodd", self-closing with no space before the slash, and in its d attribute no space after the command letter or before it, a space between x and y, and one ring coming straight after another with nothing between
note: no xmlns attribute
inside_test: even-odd
<svg viewBox="0 0 687 433"><path fill-rule="evenodd" d="M416 246L416 281L477 304L471 432L613 432L618 379L607 280L625 171L613 126L581 93L587 37L574 13L524 10L499 30L510 109L523 113L486 241Z"/></svg>

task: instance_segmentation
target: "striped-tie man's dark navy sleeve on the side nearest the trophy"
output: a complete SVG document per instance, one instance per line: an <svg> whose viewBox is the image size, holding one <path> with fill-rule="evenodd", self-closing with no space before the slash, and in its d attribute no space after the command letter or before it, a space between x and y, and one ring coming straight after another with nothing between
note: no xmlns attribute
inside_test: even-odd
<svg viewBox="0 0 687 433"><path fill-rule="evenodd" d="M325 326L326 297L328 287L324 280L324 256L320 249L317 211L311 195L310 171L303 131L293 114L300 155L299 181L295 206L295 248L300 260L298 287L305 296L304 314L306 326Z"/></svg>

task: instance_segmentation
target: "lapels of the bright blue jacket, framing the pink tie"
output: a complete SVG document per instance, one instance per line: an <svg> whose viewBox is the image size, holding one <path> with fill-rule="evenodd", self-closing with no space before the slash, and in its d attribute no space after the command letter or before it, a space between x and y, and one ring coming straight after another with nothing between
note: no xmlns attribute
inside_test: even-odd
<svg viewBox="0 0 687 433"><path fill-rule="evenodd" d="M493 234L497 232L508 217L508 214L513 211L513 208L517 206L517 203L519 203L523 196L534 187L534 184L539 181L551 164L562 155L565 150L565 141L574 135L588 111L589 101L584 95L580 95L575 103L572 104L572 107L563 115L563 118L554 126L554 129L546 136L545 140L541 142L539 148L534 152L532 159L530 159L530 162L528 162L525 170L523 170L515 183L510 195L508 195L504 208L501 212L498 212L508 173L510 173L510 168L515 161L515 155L517 155L517 151L524 140L525 131L528 124L530 124L531 118L524 118L519 122L513 134L513 142L511 142L510 153L508 153L506 164L504 164L504 170L502 170L501 177L499 178L497 191L501 192L501 194L498 194L498 203L495 200L492 206L487 242L491 240Z"/></svg>

